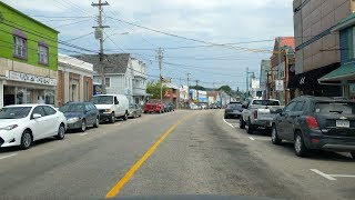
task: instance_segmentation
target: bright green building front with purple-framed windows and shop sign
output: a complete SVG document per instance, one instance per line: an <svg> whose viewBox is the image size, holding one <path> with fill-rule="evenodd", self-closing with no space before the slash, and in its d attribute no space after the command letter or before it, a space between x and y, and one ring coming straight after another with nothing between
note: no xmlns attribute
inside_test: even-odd
<svg viewBox="0 0 355 200"><path fill-rule="evenodd" d="M0 1L0 108L54 104L58 31Z"/></svg>

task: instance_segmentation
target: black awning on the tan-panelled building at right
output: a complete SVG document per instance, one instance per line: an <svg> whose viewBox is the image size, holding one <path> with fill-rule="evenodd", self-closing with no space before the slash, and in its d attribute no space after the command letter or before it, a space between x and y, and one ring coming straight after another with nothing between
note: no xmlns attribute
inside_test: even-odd
<svg viewBox="0 0 355 200"><path fill-rule="evenodd" d="M331 71L335 70L338 68L338 63L331 64L327 67L314 69L311 71L306 71L300 74L294 76L287 84L288 89L296 89L296 88L312 88L312 87L318 87L318 79Z"/></svg>

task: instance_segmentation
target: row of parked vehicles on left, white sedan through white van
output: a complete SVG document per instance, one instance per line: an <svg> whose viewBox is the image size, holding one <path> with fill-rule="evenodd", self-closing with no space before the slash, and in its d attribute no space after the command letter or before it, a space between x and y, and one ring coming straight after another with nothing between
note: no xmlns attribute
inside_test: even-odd
<svg viewBox="0 0 355 200"><path fill-rule="evenodd" d="M141 107L129 104L126 97L120 94L94 96L91 102L67 102L59 109L49 104L7 106L0 110L0 147L29 149L43 138L62 140L69 129L84 132L100 122L141 116Z"/></svg>

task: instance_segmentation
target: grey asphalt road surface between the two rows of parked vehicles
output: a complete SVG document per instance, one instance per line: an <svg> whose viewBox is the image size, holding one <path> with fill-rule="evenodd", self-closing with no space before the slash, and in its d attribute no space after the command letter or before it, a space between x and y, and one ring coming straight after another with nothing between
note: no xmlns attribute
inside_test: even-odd
<svg viewBox="0 0 355 200"><path fill-rule="evenodd" d="M347 154L297 158L292 144L273 146L263 131L250 136L237 126L223 120L223 110L181 110L70 132L26 151L0 149L0 199L355 198L355 162Z"/></svg>

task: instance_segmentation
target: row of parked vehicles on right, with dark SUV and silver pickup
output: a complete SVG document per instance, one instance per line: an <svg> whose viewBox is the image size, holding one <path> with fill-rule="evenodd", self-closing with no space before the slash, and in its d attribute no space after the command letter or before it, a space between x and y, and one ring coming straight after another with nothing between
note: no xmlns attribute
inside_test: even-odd
<svg viewBox="0 0 355 200"><path fill-rule="evenodd" d="M292 142L298 157L312 150L326 150L349 152L355 159L355 102L302 96L281 108L275 100L261 101L264 102L251 100L243 107L241 129L246 127L252 133L263 127L271 131L273 144Z"/></svg>

